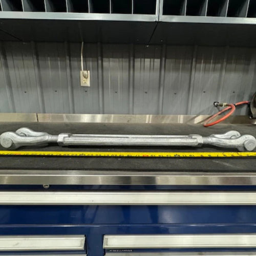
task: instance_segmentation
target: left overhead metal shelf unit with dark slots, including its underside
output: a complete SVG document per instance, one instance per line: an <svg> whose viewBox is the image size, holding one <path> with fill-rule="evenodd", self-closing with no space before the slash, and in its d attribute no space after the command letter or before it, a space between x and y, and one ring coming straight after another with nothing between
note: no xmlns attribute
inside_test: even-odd
<svg viewBox="0 0 256 256"><path fill-rule="evenodd" d="M0 40L148 44L159 0L0 0Z"/></svg>

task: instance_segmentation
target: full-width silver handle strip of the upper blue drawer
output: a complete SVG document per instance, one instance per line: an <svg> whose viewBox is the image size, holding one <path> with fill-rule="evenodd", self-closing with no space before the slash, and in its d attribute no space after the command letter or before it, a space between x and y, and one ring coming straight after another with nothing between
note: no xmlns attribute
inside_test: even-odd
<svg viewBox="0 0 256 256"><path fill-rule="evenodd" d="M256 192L0 191L0 205L256 205Z"/></svg>

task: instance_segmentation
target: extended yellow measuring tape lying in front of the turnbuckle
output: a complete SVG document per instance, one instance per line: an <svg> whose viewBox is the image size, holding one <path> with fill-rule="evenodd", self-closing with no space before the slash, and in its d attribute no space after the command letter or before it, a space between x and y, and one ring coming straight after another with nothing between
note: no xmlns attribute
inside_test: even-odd
<svg viewBox="0 0 256 256"><path fill-rule="evenodd" d="M79 152L79 151L0 151L0 156L67 157L256 157L256 152Z"/></svg>

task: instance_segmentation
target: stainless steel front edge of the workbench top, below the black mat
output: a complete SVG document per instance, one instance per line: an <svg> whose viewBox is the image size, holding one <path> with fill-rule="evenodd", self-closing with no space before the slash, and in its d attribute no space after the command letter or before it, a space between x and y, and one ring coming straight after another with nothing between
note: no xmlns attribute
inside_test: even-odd
<svg viewBox="0 0 256 256"><path fill-rule="evenodd" d="M255 173L0 170L1 185L256 185Z"/></svg>

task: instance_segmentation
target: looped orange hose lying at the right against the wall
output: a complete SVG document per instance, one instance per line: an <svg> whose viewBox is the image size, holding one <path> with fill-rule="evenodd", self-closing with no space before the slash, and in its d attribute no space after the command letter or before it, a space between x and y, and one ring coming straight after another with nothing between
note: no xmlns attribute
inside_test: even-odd
<svg viewBox="0 0 256 256"><path fill-rule="evenodd" d="M231 104L231 103L219 103L219 102L214 102L214 105L217 107L217 106L227 106L227 108L219 111L218 113L210 116L205 122L204 122L204 127L209 127L209 126L212 126L212 125L215 125L217 123L220 123L222 121L224 121L225 119L227 119L229 116L231 116L234 111L236 110L236 106L239 106L239 105L243 105L243 104L249 104L250 101L240 101L240 102L237 102L235 104ZM222 113L226 112L230 110L225 116L219 118L218 120L214 121L214 122L210 122L212 119L214 119L215 117L221 115ZM210 123L209 123L210 122Z"/></svg>

